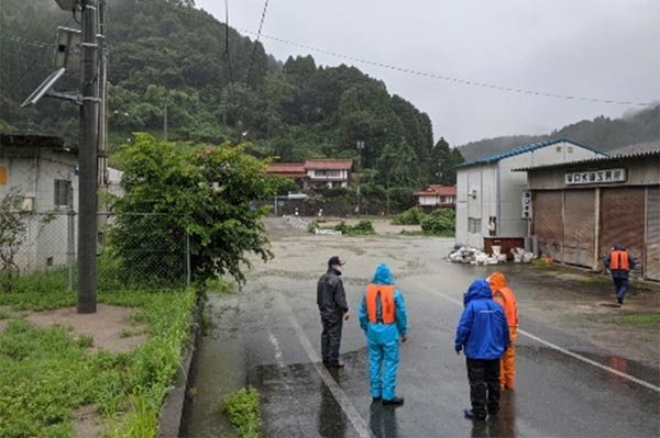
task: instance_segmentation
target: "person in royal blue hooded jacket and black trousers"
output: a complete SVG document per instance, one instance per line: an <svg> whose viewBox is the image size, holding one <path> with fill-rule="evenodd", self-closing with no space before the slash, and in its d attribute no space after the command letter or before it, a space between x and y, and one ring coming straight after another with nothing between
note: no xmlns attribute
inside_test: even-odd
<svg viewBox="0 0 660 438"><path fill-rule="evenodd" d="M509 347L509 328L502 305L493 300L491 284L474 280L463 296L454 349L464 351L472 409L465 418L483 420L499 411L499 358Z"/></svg>

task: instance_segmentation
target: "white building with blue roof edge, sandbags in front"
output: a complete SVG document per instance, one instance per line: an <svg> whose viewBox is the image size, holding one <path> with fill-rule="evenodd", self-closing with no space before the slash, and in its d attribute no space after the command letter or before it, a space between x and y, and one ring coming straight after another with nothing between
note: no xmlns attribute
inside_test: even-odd
<svg viewBox="0 0 660 438"><path fill-rule="evenodd" d="M605 157L575 142L559 138L518 146L468 161L457 171L457 245L484 248L484 237L525 238L527 175L513 169Z"/></svg>

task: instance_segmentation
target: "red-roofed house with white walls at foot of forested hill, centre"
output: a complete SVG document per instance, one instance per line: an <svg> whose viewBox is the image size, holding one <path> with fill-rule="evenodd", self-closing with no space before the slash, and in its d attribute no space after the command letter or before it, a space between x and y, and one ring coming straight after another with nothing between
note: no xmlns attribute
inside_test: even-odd
<svg viewBox="0 0 660 438"><path fill-rule="evenodd" d="M349 187L352 159L319 158L305 162L273 162L267 172L297 181L305 190Z"/></svg>

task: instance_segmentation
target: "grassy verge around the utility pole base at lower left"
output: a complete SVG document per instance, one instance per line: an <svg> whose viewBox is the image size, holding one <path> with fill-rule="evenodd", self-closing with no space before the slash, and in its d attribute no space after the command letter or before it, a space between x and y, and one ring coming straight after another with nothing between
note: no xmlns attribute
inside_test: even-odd
<svg viewBox="0 0 660 438"><path fill-rule="evenodd" d="M50 280L50 281L48 281ZM72 412L96 406L111 437L153 437L183 356L197 301L193 289L99 291L99 303L135 307L147 340L130 352L89 352L90 337L63 327L11 321L0 334L0 438L72 437ZM66 271L18 279L0 305L50 310L75 305Z"/></svg>

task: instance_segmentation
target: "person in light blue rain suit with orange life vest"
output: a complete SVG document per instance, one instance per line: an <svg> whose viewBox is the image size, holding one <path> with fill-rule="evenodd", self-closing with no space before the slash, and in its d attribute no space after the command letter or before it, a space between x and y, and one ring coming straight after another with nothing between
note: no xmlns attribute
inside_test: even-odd
<svg viewBox="0 0 660 438"><path fill-rule="evenodd" d="M408 319L404 294L395 288L387 265L377 266L360 304L360 326L366 334L370 390L375 403L400 406L396 396L399 339L407 340Z"/></svg>

